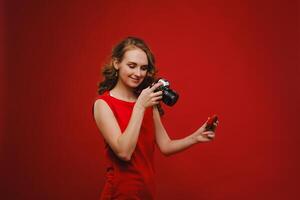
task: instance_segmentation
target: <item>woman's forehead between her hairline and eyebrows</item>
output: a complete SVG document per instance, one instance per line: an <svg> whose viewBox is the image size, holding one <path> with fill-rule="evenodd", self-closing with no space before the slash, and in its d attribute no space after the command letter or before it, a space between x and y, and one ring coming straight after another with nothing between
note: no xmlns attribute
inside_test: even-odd
<svg viewBox="0 0 300 200"><path fill-rule="evenodd" d="M124 54L123 61L134 62L140 65L148 65L148 58L146 53L138 48L127 50Z"/></svg>

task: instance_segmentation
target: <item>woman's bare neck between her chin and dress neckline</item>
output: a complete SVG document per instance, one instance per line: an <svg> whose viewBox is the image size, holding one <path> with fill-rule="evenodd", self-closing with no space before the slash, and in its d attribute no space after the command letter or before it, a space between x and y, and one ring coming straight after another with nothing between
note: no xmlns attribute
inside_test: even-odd
<svg viewBox="0 0 300 200"><path fill-rule="evenodd" d="M125 101L135 101L136 95L134 94L134 89L126 87L122 81L119 79L116 86L110 91L113 97L116 97Z"/></svg>

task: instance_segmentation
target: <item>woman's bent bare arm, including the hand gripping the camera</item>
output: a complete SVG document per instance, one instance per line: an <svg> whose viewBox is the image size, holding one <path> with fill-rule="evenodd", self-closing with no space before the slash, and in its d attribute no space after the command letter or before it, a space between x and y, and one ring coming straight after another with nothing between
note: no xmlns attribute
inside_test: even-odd
<svg viewBox="0 0 300 200"><path fill-rule="evenodd" d="M124 132L107 103L101 99L94 105L94 118L98 129L114 153L122 160L129 161L135 150L144 113L147 107L158 104L161 92L153 92L160 84L143 90L136 101L130 120Z"/></svg>

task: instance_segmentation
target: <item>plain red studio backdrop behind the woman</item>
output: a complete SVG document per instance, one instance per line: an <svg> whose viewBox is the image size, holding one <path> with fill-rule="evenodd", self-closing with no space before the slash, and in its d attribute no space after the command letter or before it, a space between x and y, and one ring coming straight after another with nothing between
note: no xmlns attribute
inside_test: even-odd
<svg viewBox="0 0 300 200"><path fill-rule="evenodd" d="M180 94L165 108L172 138L220 116L215 141L167 158L157 151L158 200L298 199L299 8L2 2L1 199L98 199L103 142L91 106L102 64L128 35L149 44Z"/></svg>

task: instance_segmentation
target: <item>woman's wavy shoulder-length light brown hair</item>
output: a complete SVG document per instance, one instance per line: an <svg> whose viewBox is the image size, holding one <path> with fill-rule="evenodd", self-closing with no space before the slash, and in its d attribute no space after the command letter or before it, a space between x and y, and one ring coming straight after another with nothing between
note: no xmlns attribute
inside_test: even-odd
<svg viewBox="0 0 300 200"><path fill-rule="evenodd" d="M109 61L104 65L102 69L102 76L104 77L104 80L98 83L98 94L101 95L105 91L109 91L116 86L118 82L118 71L114 68L113 62L114 61L121 62L125 52L134 48L139 48L143 50L146 53L148 59L146 77L144 78L143 82L138 87L135 88L134 90L135 95L138 97L143 89L152 85L152 83L155 82L156 80L155 75L157 73L157 69L155 66L155 58L150 48L140 38L127 37L112 49L111 56L109 57ZM157 107L160 115L163 115L164 111L161 108L161 105L158 104Z"/></svg>

